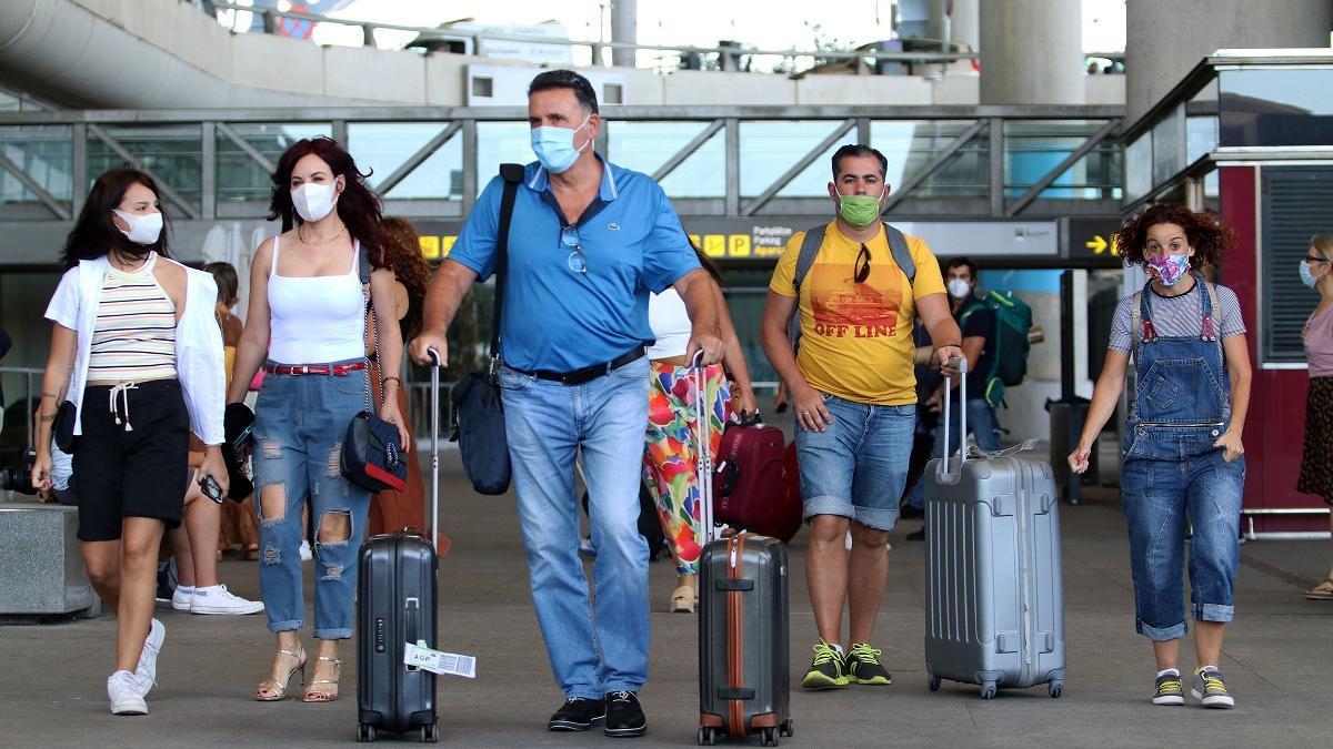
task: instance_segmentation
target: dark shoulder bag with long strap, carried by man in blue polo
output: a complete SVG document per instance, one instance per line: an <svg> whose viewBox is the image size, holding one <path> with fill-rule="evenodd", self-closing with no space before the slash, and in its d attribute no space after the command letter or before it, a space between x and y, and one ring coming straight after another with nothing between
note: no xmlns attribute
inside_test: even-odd
<svg viewBox="0 0 1333 749"><path fill-rule="evenodd" d="M500 397L500 315L509 255L509 223L523 181L523 164L501 164L504 195L500 199L500 232L496 236L496 296L491 309L491 361L484 371L469 372L449 393L463 470L479 494L509 490L512 466L504 432L504 404Z"/></svg>

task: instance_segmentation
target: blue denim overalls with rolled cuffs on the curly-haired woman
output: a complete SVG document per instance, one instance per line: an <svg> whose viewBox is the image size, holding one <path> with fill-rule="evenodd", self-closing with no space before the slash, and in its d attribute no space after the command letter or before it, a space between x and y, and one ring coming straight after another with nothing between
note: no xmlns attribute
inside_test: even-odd
<svg viewBox="0 0 1333 749"><path fill-rule="evenodd" d="M1186 513L1190 610L1230 621L1240 562L1245 461L1222 460L1213 442L1230 422L1230 378L1204 279L1194 275L1200 336L1157 335L1152 281L1140 295L1134 347L1137 393L1125 424L1121 502L1129 521L1137 630L1150 640L1182 637L1181 557Z"/></svg>

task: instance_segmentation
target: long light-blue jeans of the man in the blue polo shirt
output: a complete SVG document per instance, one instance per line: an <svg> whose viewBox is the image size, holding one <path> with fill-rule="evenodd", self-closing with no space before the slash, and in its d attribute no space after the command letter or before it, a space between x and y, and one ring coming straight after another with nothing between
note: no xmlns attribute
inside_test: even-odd
<svg viewBox="0 0 1333 749"><path fill-rule="evenodd" d="M648 681L648 542L639 534L648 359L583 385L500 371L532 602L565 697ZM575 453L588 482L593 597L579 558Z"/></svg>

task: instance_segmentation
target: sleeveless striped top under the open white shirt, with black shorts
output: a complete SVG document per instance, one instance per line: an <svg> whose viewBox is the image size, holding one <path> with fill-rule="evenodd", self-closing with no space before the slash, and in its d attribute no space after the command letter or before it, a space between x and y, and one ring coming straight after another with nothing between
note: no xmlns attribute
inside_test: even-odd
<svg viewBox="0 0 1333 749"><path fill-rule="evenodd" d="M176 377L176 304L153 276L157 253L140 271L108 265L88 360L89 382Z"/></svg>

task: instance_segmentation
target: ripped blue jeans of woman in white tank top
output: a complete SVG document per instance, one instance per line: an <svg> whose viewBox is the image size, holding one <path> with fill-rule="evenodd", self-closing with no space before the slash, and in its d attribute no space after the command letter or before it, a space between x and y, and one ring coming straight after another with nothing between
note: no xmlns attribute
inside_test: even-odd
<svg viewBox="0 0 1333 749"><path fill-rule="evenodd" d="M259 580L269 632L305 624L303 512L315 530L315 637L352 637L356 562L371 494L343 478L347 424L365 408L365 373L273 374L255 404ZM281 514L275 510L281 509Z"/></svg>

